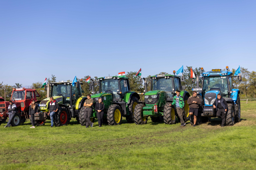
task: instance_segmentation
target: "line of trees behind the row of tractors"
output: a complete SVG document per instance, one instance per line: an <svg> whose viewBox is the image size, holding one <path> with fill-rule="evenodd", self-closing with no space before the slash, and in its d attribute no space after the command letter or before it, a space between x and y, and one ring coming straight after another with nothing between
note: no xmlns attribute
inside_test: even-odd
<svg viewBox="0 0 256 170"><path fill-rule="evenodd" d="M193 83L192 79L190 78L190 66L186 66L186 68L184 69L184 73L183 76L185 77L185 82L182 82L182 85L186 86L186 91L189 92L189 94L192 94L192 88L196 87L196 82ZM239 82L237 78L233 78L233 86L234 88L238 88L240 89L240 98L241 99L246 99L246 98L255 98L255 92L256 92L256 72L255 71L248 71L248 69L240 67L241 69L241 76L242 76L242 81ZM194 71L194 73L196 73L197 75L201 75L201 68L200 67L196 67L196 68L192 68L192 70ZM229 70L230 71L230 70ZM231 69L231 71L236 72L236 69ZM204 72L204 70L203 70ZM130 71L126 73L126 77L129 78L129 83L130 83L130 88L131 91L135 91L137 93L141 93L144 90L144 83L140 84L140 77L135 77L136 75L136 71ZM157 74L173 74L172 72L160 72ZM143 72L142 72L142 75ZM156 74L154 74L156 75ZM181 74L179 74L181 75ZM148 83L148 91L150 90L150 77L152 75L148 75L147 77L145 77L147 83ZM82 89L84 90L83 96L86 96L87 94L91 94L92 91L89 90L89 84L85 81L87 78L89 78L89 75L84 76L83 78L77 78L77 81L79 81L80 79L83 79L83 84L81 85ZM91 79L94 80L95 82L95 92L99 91L99 82L97 81L98 77L91 77ZM67 80L70 81L70 80ZM53 83L56 82L56 76L52 75L51 78L47 79L47 82L49 83ZM43 82L35 82L32 83L31 86L29 86L29 88L34 88L36 89L39 94L40 94L40 98L38 98L38 100L43 100L46 98L46 91L44 90L44 88L42 88ZM202 79L199 79L199 86L202 86ZM22 88L22 84L19 83L15 83L15 85L8 85L8 84L3 84L0 83L0 96L4 98L4 89L6 92L6 101L11 99L11 94L12 94L12 88Z"/></svg>

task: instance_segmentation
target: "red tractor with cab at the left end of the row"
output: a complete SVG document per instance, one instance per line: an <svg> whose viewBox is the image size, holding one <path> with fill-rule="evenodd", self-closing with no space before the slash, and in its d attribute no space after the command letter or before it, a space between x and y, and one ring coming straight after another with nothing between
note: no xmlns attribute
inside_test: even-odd
<svg viewBox="0 0 256 170"><path fill-rule="evenodd" d="M26 89L26 88L13 88L12 89L11 100L16 104L17 113L12 119L11 125L18 126L20 123L24 123L26 119L29 119L29 105L32 100L35 100L36 103L40 103L37 100L37 97L40 97L39 93L35 89ZM7 111L9 106L9 101L0 102L0 125L4 123L8 117ZM38 122L40 124L40 122Z"/></svg>

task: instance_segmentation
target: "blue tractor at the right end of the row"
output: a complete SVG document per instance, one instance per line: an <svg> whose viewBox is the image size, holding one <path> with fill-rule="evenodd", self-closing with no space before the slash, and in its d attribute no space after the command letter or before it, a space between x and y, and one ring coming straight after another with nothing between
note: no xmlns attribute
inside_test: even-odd
<svg viewBox="0 0 256 170"><path fill-rule="evenodd" d="M199 78L196 76L197 88L192 90L197 91L197 95L201 99L201 107L199 109L201 117L198 117L197 124L207 121L211 117L216 117L216 109L213 108L213 103L218 94L221 94L228 104L226 125L232 126L235 122L240 122L240 91L239 89L234 89L232 78L238 77L238 81L242 81L242 79L241 75L232 76L232 74L231 71L228 71L228 66L226 70L213 69L204 73L202 71L202 77L200 77L202 79L202 88L199 88ZM195 79L193 79L193 82L195 82ZM194 122L193 119L194 117L190 116L191 124Z"/></svg>

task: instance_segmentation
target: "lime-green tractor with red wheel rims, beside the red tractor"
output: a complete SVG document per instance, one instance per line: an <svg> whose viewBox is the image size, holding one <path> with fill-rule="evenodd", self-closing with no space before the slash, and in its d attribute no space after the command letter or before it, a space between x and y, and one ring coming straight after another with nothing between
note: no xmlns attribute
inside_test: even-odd
<svg viewBox="0 0 256 170"><path fill-rule="evenodd" d="M79 123L79 111L83 107L83 103L86 97L82 96L83 89L81 88L81 82L77 81L75 85L72 85L72 82L55 82L48 83L48 86L45 87L47 90L47 98L42 100L39 104L41 113L34 115L34 120L38 125L44 125L46 119L50 120L49 113L49 103L52 96L59 104L59 109L55 114L54 123L55 126L68 125L71 118L76 118ZM51 88L51 95L50 95Z"/></svg>

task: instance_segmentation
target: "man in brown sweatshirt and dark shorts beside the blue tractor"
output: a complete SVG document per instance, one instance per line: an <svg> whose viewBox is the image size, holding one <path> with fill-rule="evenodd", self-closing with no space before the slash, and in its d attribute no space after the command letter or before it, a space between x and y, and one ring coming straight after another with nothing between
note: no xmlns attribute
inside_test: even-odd
<svg viewBox="0 0 256 170"><path fill-rule="evenodd" d="M190 116L193 116L194 114L194 125L193 127L196 126L196 122L197 122L197 116L198 115L198 108L199 108L199 105L201 104L201 100L199 97L197 97L197 92L196 91L193 91L193 95L190 96L187 100L187 104L189 104L189 115ZM192 124L191 124L192 125Z"/></svg>

